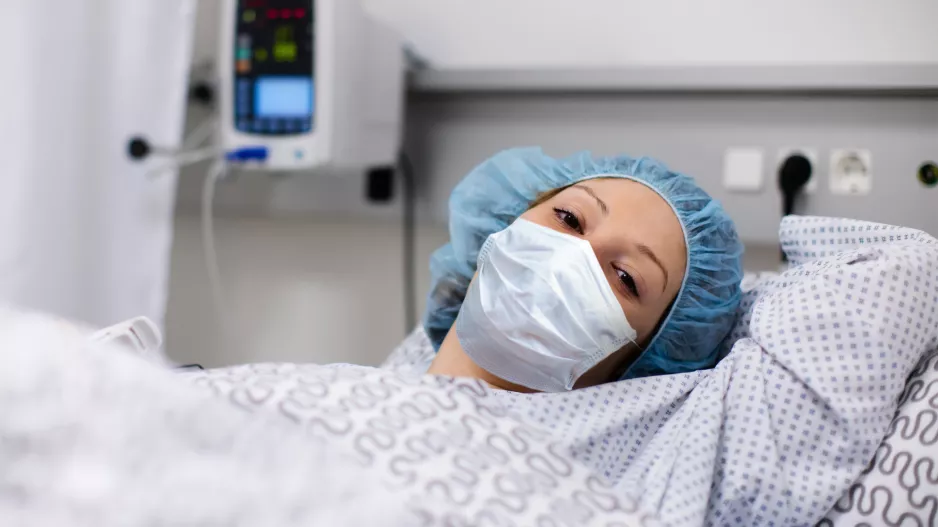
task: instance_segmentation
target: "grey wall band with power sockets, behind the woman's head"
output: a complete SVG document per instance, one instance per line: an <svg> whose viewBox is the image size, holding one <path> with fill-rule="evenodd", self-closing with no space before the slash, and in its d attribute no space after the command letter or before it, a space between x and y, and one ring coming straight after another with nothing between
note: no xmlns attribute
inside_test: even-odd
<svg viewBox="0 0 938 527"><path fill-rule="evenodd" d="M589 149L660 158L720 199L746 241L771 244L781 215L776 153L794 146L819 152L818 189L806 196L801 213L938 233L938 188L927 189L916 179L923 161L938 161L938 100L928 97L415 94L407 126L424 222L445 222L449 192L479 161L506 147L538 145L558 156ZM765 149L761 193L722 187L724 151L736 146ZM829 152L841 147L872 152L870 195L830 193ZM183 211L198 201L197 180L182 178ZM363 177L245 175L222 185L218 207L239 215L396 217L396 206L366 203L363 184Z"/></svg>

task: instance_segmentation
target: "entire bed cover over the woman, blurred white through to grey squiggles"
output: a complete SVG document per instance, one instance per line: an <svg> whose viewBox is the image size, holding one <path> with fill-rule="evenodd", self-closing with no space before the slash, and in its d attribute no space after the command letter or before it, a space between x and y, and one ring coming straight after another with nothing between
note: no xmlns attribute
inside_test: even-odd
<svg viewBox="0 0 938 527"><path fill-rule="evenodd" d="M0 311L4 526L659 525L480 381L171 373L59 329Z"/></svg>

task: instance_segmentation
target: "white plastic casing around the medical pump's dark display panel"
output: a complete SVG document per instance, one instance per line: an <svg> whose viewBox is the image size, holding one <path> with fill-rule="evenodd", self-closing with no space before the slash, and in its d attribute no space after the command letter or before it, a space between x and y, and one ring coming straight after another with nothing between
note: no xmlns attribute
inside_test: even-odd
<svg viewBox="0 0 938 527"><path fill-rule="evenodd" d="M314 122L291 136L243 133L234 123L237 0L223 0L219 45L220 127L226 152L266 147L244 169L347 173L393 165L401 146L405 62L401 39L357 0L311 0L315 21ZM317 170L318 169L318 170Z"/></svg>

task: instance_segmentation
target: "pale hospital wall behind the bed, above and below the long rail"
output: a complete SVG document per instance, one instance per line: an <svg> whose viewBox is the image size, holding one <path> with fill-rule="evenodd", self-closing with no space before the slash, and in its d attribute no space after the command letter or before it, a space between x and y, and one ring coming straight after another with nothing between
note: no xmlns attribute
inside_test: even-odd
<svg viewBox="0 0 938 527"><path fill-rule="evenodd" d="M200 3L210 58L212 2ZM441 69L616 67L632 64L919 64L938 67L938 3L569 2L382 0L371 9ZM208 13L208 14L206 14ZM519 32L523 36L519 36ZM792 39L791 35L799 38ZM870 38L876 35L876 38ZM784 147L820 154L819 188L802 211L904 224L938 234L938 189L915 179L938 158L938 101L925 97L591 94L429 94L408 99L406 149L418 178L418 299L426 261L445 242L446 199L481 159L513 145L563 155L588 148L666 160L693 174L736 218L747 268L776 265ZM192 121L198 120L193 110ZM728 147L764 150L765 185L722 186ZM834 196L831 149L873 153L873 192ZM398 203L369 204L363 178L241 175L220 185L218 246L241 346L221 342L202 264L196 211L201 170L179 185L167 315L168 349L207 365L259 360L374 364L403 336Z"/></svg>

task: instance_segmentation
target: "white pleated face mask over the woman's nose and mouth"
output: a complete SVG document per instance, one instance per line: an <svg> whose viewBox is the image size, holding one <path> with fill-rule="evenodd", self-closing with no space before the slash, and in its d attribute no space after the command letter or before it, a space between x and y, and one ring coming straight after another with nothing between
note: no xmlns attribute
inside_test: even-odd
<svg viewBox="0 0 938 527"><path fill-rule="evenodd" d="M636 332L588 241L519 219L482 246L456 336L492 375L559 392Z"/></svg>

